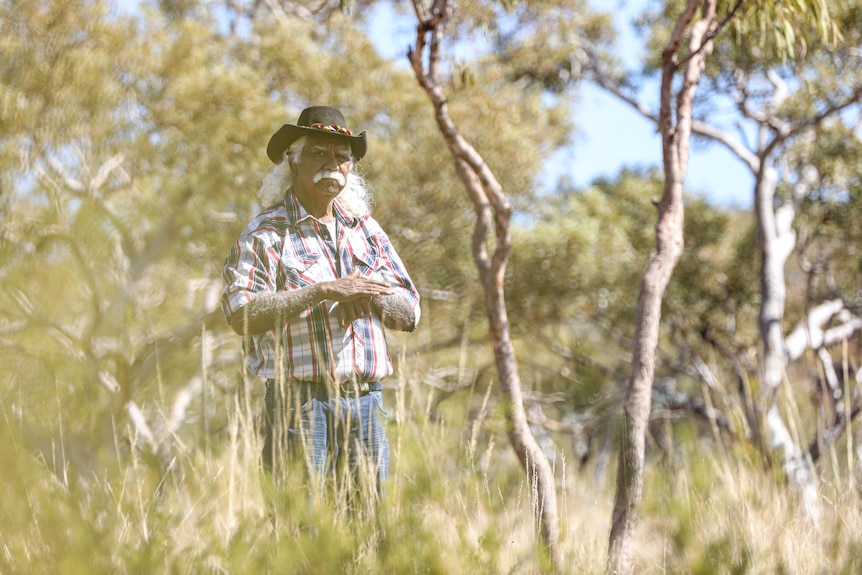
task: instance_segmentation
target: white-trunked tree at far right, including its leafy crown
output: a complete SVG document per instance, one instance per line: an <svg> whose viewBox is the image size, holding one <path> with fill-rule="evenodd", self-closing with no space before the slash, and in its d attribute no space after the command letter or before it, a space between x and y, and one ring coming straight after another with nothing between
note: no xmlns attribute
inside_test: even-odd
<svg viewBox="0 0 862 575"><path fill-rule="evenodd" d="M786 378L789 362L808 347L825 359L823 351L862 327L848 309L853 294L842 290L809 291L799 309L799 327L785 336L783 326L788 301L785 268L797 249L799 210L834 204L836 187L843 188L845 195L850 191L842 170L836 172L831 169L834 163L823 161L818 150L821 139L840 138L850 149L859 146L852 128L842 129L846 119L858 118L862 100L858 7L842 4L830 10L843 38L838 42L827 38L824 43L817 33L809 34L809 49L803 51L806 44L802 43L797 58L789 63L764 58L741 46L727 46L717 58L723 73L717 76L716 85L733 97L739 117L753 126L750 131L757 134L756 140L746 146L714 126L704 124L699 130L731 149L755 175L754 213L761 260L759 375L764 397L760 407L766 413L763 435L773 451L783 453L788 479L805 489L812 500L813 478L804 452L788 432L775 394ZM799 231L809 236L805 228ZM800 261L804 264L804 260L803 255ZM813 273L817 267L809 267L809 271ZM803 332L806 336L800 339Z"/></svg>

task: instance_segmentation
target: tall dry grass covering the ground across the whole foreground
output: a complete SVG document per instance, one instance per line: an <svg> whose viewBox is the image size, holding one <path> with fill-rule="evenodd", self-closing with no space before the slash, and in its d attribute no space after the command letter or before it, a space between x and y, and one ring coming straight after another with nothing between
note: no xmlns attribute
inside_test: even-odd
<svg viewBox="0 0 862 575"><path fill-rule="evenodd" d="M141 456L123 428L89 467L53 471L4 405L0 573L540 572L541 506L493 390L476 385L433 411L427 390L415 373L389 381L390 482L360 514L335 496L310 506L302 489L268 503L254 391L227 396L225 431L207 446L176 438L164 459ZM639 572L862 572L862 505L840 446L815 519L753 451L685 424L674 436L672 457L648 466ZM54 437L52 449L75 449ZM614 475L597 480L563 452L556 461L570 572L603 573Z"/></svg>

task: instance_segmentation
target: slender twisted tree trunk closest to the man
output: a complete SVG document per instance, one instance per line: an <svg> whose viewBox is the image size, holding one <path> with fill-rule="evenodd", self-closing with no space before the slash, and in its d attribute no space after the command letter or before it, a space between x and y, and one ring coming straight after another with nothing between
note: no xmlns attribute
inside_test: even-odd
<svg viewBox="0 0 862 575"><path fill-rule="evenodd" d="M497 376L503 395L509 442L530 481L534 520L544 542L546 557L554 571L565 572L559 549L559 519L554 474L544 451L530 431L518 361L509 335L509 319L504 291L506 265L512 251L509 220L512 208L502 186L479 153L458 132L449 117L446 97L439 78L439 50L442 30L449 15L447 0L435 0L426 11L419 2L413 3L418 20L416 45L409 59L416 79L434 106L435 118L464 182L467 195L476 211L473 232L473 259L485 294L485 312L494 348ZM430 38L430 44L428 39ZM428 64L423 57L428 44ZM489 256L487 239L494 227L496 243Z"/></svg>

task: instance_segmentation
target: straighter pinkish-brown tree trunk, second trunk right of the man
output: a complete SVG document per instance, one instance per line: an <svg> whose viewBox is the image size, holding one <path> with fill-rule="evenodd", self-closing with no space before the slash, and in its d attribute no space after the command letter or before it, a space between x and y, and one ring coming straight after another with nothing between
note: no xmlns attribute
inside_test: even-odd
<svg viewBox="0 0 862 575"><path fill-rule="evenodd" d="M695 14L701 9L701 17ZM689 0L678 18L662 53L659 130L662 135L664 194L658 204L656 251L641 282L638 294L637 325L632 355L632 374L624 404L625 428L617 468L617 490L608 545L608 571L633 572L632 551L637 527L637 508L643 495L644 437L652 397L655 352L661 323L664 291L683 249L682 190L688 166L691 138L691 106L711 41L702 45L715 19L715 0ZM676 117L672 111L673 82L680 67L678 50L689 36L685 76L676 96Z"/></svg>

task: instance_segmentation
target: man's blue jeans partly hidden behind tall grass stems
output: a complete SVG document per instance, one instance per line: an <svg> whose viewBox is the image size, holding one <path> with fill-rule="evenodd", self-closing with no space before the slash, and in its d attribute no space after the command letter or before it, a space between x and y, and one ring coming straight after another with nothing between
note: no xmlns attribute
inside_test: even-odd
<svg viewBox="0 0 862 575"><path fill-rule="evenodd" d="M324 384L270 380L262 463L278 482L286 464L303 462L323 487L340 465L354 482L374 478L378 494L389 474L389 436L379 383L369 390L336 392ZM288 472L289 473L289 472Z"/></svg>

